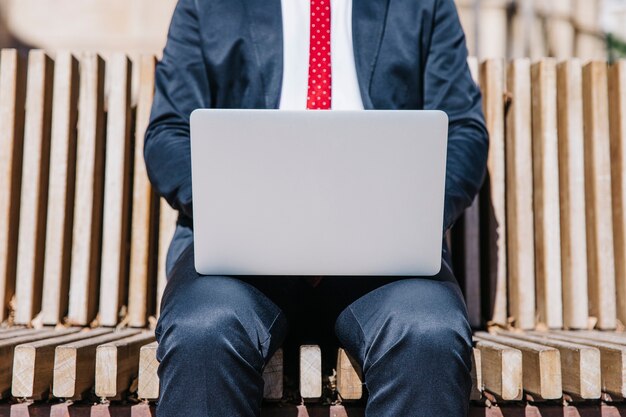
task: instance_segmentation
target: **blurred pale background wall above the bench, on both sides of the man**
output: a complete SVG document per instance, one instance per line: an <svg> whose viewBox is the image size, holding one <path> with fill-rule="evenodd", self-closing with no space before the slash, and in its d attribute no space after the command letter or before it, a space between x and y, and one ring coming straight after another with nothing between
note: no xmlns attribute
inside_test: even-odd
<svg viewBox="0 0 626 417"><path fill-rule="evenodd" d="M626 0L456 0L472 55L606 57ZM176 0L0 0L0 44L160 54Z"/></svg>

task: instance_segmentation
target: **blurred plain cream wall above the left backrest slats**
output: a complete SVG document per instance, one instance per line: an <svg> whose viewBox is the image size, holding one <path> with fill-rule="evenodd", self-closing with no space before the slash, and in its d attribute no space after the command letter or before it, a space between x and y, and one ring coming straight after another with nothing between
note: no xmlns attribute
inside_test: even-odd
<svg viewBox="0 0 626 417"><path fill-rule="evenodd" d="M132 55L160 53L175 5L176 0L0 0L0 11L3 31L25 44Z"/></svg>

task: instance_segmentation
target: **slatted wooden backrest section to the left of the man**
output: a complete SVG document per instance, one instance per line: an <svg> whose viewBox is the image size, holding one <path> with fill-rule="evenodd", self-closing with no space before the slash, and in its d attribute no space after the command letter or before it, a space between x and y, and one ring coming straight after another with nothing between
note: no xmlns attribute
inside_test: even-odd
<svg viewBox="0 0 626 417"><path fill-rule="evenodd" d="M176 219L143 163L155 63L142 57L133 85L124 54L2 51L0 320L9 306L17 324L155 314Z"/></svg>

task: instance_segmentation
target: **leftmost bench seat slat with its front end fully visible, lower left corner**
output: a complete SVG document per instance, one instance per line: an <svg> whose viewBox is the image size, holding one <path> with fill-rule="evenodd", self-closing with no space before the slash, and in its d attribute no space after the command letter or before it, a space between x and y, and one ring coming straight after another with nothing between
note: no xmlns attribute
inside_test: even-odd
<svg viewBox="0 0 626 417"><path fill-rule="evenodd" d="M110 332L109 329L95 329L20 344L15 348L13 357L11 394L33 400L47 398L52 385L55 348Z"/></svg>

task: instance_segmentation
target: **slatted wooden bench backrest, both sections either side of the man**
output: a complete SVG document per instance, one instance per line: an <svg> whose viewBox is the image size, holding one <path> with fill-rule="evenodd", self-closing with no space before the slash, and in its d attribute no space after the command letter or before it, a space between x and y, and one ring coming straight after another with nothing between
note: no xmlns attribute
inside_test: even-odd
<svg viewBox="0 0 626 417"><path fill-rule="evenodd" d="M155 64L0 53L0 321L141 327L158 311L176 212L143 163ZM452 237L473 324L626 322L626 63L469 64L490 131Z"/></svg>

